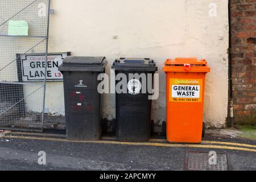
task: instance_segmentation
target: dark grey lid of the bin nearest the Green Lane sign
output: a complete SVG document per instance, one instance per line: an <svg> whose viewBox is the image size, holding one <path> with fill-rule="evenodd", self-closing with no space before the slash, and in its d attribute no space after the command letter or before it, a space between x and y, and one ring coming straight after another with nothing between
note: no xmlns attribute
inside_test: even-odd
<svg viewBox="0 0 256 182"><path fill-rule="evenodd" d="M107 64L105 57L68 56L59 66L59 71L103 72Z"/></svg>

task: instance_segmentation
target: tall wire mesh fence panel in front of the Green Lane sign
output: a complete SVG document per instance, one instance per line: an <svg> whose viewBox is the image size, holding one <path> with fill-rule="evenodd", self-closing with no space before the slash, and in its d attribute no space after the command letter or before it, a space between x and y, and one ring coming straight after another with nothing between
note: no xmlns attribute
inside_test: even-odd
<svg viewBox="0 0 256 182"><path fill-rule="evenodd" d="M43 130L48 11L49 0L0 1L0 129Z"/></svg>

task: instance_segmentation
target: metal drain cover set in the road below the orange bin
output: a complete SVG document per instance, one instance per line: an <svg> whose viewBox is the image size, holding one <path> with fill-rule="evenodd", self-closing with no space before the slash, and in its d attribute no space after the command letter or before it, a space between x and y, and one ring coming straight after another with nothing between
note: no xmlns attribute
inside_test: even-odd
<svg viewBox="0 0 256 182"><path fill-rule="evenodd" d="M226 154L217 154L216 164L209 164L207 152L189 151L185 159L184 170L186 171L229 171L228 157Z"/></svg>

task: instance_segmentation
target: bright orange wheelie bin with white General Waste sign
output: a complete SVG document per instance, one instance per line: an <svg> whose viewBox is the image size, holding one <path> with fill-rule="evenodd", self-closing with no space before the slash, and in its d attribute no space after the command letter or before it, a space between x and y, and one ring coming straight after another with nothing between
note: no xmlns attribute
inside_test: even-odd
<svg viewBox="0 0 256 182"><path fill-rule="evenodd" d="M210 68L196 58L168 59L166 72L166 134L168 142L200 143L203 132L205 75Z"/></svg>

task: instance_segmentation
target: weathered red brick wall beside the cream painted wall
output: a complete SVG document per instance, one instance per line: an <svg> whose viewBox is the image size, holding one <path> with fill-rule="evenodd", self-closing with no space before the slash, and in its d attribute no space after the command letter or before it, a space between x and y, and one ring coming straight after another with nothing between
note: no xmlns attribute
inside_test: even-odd
<svg viewBox="0 0 256 182"><path fill-rule="evenodd" d="M256 0L230 0L234 122L256 124Z"/></svg>

